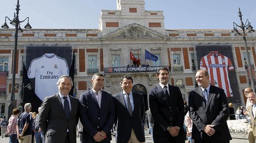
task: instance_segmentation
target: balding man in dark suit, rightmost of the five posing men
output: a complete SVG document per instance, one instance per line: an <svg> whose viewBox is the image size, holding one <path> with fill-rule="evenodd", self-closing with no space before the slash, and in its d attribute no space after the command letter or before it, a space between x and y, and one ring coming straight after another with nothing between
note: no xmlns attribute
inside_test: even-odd
<svg viewBox="0 0 256 143"><path fill-rule="evenodd" d="M188 100L192 139L195 143L229 143L232 138L226 122L229 108L224 90L210 85L206 70L198 70L195 81L199 87L189 93Z"/></svg>

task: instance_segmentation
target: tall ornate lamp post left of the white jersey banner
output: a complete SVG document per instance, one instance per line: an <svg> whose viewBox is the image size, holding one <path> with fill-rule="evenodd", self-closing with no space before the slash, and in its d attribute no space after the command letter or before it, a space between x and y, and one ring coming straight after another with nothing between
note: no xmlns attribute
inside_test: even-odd
<svg viewBox="0 0 256 143"><path fill-rule="evenodd" d="M19 20L19 11L20 11L20 4L19 0L17 0L17 5L16 5L16 14L14 13L13 19L9 19L7 16L5 16L5 22L1 26L4 29L8 29L8 25L6 23L6 19L10 21L10 24L12 26L15 26L15 35L14 35L14 53L13 53L13 64L12 64L12 92L11 92L11 99L8 104L8 118L11 117L12 115L12 109L13 109L13 104L15 101L15 73L16 73L16 55L17 55L17 43L18 43L18 32L22 32L23 30L20 28L20 23L24 22L26 19L28 19L28 23L25 25L24 28L26 29L31 29L32 27L29 24L29 18L27 17L26 19L20 21Z"/></svg>

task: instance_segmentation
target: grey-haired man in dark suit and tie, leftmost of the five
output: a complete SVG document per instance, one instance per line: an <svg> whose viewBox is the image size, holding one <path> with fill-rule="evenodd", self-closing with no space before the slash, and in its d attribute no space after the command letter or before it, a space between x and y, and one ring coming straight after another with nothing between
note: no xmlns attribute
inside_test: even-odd
<svg viewBox="0 0 256 143"><path fill-rule="evenodd" d="M79 100L69 95L73 86L69 76L61 76L57 85L59 92L45 97L41 105L39 127L45 135L45 143L76 143Z"/></svg>

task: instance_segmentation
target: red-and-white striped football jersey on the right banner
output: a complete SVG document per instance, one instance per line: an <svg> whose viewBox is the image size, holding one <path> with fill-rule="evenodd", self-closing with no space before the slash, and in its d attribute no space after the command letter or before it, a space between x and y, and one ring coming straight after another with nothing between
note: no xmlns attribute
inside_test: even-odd
<svg viewBox="0 0 256 143"><path fill-rule="evenodd" d="M233 97L228 71L234 70L231 60L219 51L211 51L201 58L200 69L207 70L211 85L224 89L227 97Z"/></svg>

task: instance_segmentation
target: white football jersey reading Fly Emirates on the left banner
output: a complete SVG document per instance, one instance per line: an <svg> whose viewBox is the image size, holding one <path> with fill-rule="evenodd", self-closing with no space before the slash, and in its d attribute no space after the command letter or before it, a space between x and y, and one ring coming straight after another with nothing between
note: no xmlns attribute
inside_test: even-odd
<svg viewBox="0 0 256 143"><path fill-rule="evenodd" d="M62 75L69 75L68 64L53 53L33 59L28 68L28 78L35 78L35 93L42 101L58 92L56 83Z"/></svg>

